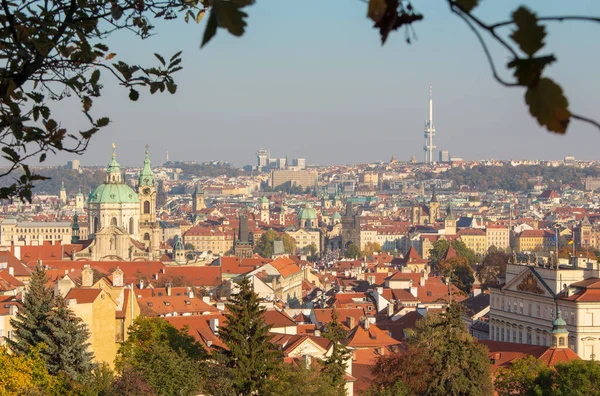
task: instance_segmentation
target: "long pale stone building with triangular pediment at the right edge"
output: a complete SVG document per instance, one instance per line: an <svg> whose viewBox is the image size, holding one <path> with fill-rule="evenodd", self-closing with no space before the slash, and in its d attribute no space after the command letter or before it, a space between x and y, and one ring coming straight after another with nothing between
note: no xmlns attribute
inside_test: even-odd
<svg viewBox="0 0 600 396"><path fill-rule="evenodd" d="M558 309L567 322L569 348L583 359L597 359L600 297L588 291L599 276L595 264L556 269L509 263L506 283L490 292L490 339L550 346Z"/></svg>

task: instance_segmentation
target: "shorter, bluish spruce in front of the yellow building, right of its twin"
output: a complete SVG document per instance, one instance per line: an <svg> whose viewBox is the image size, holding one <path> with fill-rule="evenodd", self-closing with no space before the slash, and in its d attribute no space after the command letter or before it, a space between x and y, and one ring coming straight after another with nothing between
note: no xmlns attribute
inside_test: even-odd
<svg viewBox="0 0 600 396"><path fill-rule="evenodd" d="M92 369L93 353L88 352L89 331L69 309L64 297L54 298L54 308L47 315L47 329L41 336L46 348L41 351L48 372L64 373L73 380Z"/></svg>

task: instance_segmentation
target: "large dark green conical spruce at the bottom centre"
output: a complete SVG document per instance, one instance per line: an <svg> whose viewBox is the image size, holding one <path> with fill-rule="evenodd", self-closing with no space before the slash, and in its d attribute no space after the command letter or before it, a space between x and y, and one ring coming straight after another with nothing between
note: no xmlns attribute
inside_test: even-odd
<svg viewBox="0 0 600 396"><path fill-rule="evenodd" d="M260 306L250 280L238 284L239 292L227 304L227 325L220 336L227 350L222 350L224 363L230 369L235 394L268 393L270 380L276 372L279 351L270 341L270 326L265 323L265 308Z"/></svg>

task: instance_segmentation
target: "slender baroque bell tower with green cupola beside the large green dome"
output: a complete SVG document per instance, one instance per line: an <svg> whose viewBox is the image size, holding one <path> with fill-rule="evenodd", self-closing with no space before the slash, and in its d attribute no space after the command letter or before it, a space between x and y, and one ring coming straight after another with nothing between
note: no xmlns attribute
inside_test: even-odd
<svg viewBox="0 0 600 396"><path fill-rule="evenodd" d="M157 191L147 145L144 167L138 179L138 197L140 201L140 239L144 246L149 248L152 257L158 258L160 254L160 224L156 219Z"/></svg>

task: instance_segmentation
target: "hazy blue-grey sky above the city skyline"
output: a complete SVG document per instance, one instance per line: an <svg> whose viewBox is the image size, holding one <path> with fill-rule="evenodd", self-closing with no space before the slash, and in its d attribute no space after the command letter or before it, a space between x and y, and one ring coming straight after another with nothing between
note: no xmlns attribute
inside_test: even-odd
<svg viewBox="0 0 600 396"><path fill-rule="evenodd" d="M505 20L521 3L541 15L599 15L597 0L484 0L478 15ZM117 144L123 164L141 165L144 145L155 164L171 159L256 162L259 148L273 157L304 157L310 164L364 163L423 158L423 126L433 85L436 145L465 159L598 159L600 131L573 122L566 136L545 132L524 106L523 91L496 83L475 36L444 0L414 0L425 15L417 40L391 33L385 46L359 0L258 0L242 38L219 29L199 48L205 22L161 23L140 42L111 39L116 59L153 61L183 50L177 94L142 94L109 84L94 115L112 124L93 138L83 164L105 164ZM544 52L559 62L549 69L565 89L573 112L600 118L597 51L600 26L553 23ZM494 45L490 41L491 45ZM509 60L494 52L500 68ZM505 73L508 76L508 73ZM63 109L69 126L83 121ZM437 153L436 153L437 156ZM51 158L64 163L73 156Z"/></svg>

